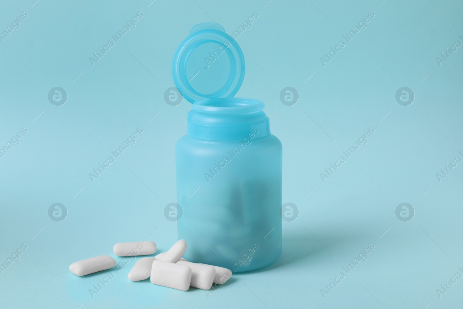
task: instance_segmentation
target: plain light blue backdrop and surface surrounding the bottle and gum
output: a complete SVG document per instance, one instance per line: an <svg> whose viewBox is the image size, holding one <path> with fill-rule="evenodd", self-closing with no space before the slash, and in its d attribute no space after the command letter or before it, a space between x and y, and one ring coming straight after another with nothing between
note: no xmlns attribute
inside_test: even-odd
<svg viewBox="0 0 463 309"><path fill-rule="evenodd" d="M27 245L0 274L3 308L461 306L463 279L436 293L463 275L463 166L436 177L463 158L463 50L436 61L463 43L461 1L35 1L2 1L0 10L1 30L27 13L0 43L0 145L27 129L0 158L0 262ZM136 28L92 67L88 57L137 12ZM191 108L163 99L176 46L193 25L215 21L231 34L253 12L237 39L246 60L237 96L264 101L283 144L283 203L300 214L283 221L282 257L209 297L130 282L130 262L92 298L108 273L77 277L71 263L114 257L116 242L153 240L163 252L176 240L163 209L175 202L174 147ZM320 57L369 12L367 29L323 66ZM288 86L300 95L294 106L279 99ZM404 86L415 94L406 107L395 101ZM66 90L64 105L48 101L53 87ZM92 183L88 173L138 127L136 144ZM370 127L368 144L323 182L320 173ZM64 221L48 216L55 202L68 209ZM413 220L396 218L402 202ZM368 259L324 298L320 289L370 243Z"/></svg>

